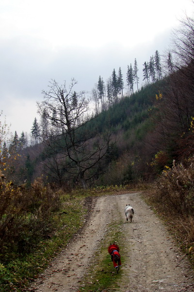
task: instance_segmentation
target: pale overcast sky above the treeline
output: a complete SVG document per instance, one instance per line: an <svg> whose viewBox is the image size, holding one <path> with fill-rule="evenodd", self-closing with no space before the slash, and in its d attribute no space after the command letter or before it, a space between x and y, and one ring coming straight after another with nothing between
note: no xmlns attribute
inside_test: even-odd
<svg viewBox="0 0 194 292"><path fill-rule="evenodd" d="M49 81L90 92L99 75L143 63L170 45L192 0L0 0L0 110L11 130L30 132ZM142 80L140 78L140 83ZM140 84L141 85L141 84Z"/></svg>

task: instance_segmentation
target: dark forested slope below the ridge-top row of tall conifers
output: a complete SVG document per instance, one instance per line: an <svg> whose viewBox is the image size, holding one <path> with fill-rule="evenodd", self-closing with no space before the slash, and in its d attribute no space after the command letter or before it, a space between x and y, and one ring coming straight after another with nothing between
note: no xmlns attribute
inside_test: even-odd
<svg viewBox="0 0 194 292"><path fill-rule="evenodd" d="M193 99L182 74L176 71L148 84L81 122L80 111L87 106L83 99L78 116L69 114L69 131L63 131L68 119L59 122L57 117L50 137L18 150L4 173L17 184L42 177L64 187L153 181L173 160L193 154ZM39 106L54 124L53 108Z"/></svg>

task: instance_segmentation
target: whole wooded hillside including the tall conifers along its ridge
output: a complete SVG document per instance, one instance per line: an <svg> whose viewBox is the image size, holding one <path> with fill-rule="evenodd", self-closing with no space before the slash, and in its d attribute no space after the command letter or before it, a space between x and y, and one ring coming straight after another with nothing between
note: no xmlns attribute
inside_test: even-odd
<svg viewBox="0 0 194 292"><path fill-rule="evenodd" d="M121 69L105 86L99 76L93 89L95 112L85 92L51 80L37 104L28 146L24 133L6 144L2 126L1 169L8 180L30 185L36 178L65 187L151 182L167 167L193 155L193 19L180 22L174 46L163 57L156 51L138 68L128 66L129 91L123 94ZM137 90L134 90L134 84ZM134 92L135 91L135 92ZM4 127L4 128L3 128ZM41 130L40 130L41 128ZM8 146L9 145L9 146ZM118 167L119 166L119 167Z"/></svg>

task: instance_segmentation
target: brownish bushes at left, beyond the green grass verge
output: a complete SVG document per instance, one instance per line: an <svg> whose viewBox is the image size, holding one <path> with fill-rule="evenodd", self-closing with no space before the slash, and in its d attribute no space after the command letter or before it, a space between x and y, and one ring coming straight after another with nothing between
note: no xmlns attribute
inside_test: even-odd
<svg viewBox="0 0 194 292"><path fill-rule="evenodd" d="M41 179L27 188L0 176L0 260L5 263L13 252L29 253L41 238L50 236L51 214L59 209L60 198Z"/></svg>

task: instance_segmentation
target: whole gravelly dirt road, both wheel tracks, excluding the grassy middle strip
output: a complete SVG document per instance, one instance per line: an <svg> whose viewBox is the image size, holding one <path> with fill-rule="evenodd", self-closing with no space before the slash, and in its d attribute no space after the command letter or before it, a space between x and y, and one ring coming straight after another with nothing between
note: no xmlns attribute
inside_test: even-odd
<svg viewBox="0 0 194 292"><path fill-rule="evenodd" d="M128 203L135 209L132 223L125 219L124 207ZM194 292L194 272L139 193L98 198L82 233L29 291L77 292L108 225L120 218L125 242L120 253L127 260L121 267L122 281L116 292Z"/></svg>

